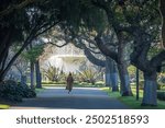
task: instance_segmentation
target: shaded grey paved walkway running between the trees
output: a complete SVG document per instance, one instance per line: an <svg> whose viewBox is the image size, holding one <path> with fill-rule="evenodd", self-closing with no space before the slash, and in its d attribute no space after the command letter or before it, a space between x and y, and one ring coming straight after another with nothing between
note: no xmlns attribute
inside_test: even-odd
<svg viewBox="0 0 165 128"><path fill-rule="evenodd" d="M127 109L116 98L97 88L74 88L70 94L64 88L46 88L36 98L24 100L11 109L61 108L61 109Z"/></svg>

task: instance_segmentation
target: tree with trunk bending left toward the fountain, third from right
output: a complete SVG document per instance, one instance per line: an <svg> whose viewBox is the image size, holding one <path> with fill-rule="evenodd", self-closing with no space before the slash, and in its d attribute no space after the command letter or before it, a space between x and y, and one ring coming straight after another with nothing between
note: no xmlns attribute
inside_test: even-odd
<svg viewBox="0 0 165 128"><path fill-rule="evenodd" d="M101 53L92 51L91 49L95 49L94 48L95 46L90 46L90 44L92 44L95 40L90 39L90 37L88 37L88 36L85 36L85 37L84 36L85 35L81 34L80 37L77 37L79 43L75 43L75 46L84 49L85 55L89 61L91 61L92 63L95 63L97 66L101 66L101 67L106 68L106 85L111 86L113 92L119 91L119 89L118 89L118 70L116 67L116 62L112 59L110 59L109 57L106 57L106 60L99 59L96 56L96 54L98 55ZM89 47L87 47L86 44L82 43L82 40L86 40L86 43L89 44ZM96 43L94 43L92 45L96 45ZM94 54L91 54L91 53L94 53Z"/></svg>

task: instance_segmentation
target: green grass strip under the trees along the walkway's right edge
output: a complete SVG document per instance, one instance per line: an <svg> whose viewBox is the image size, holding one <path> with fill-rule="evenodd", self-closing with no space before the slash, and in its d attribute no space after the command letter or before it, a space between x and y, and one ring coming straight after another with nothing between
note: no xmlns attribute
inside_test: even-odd
<svg viewBox="0 0 165 128"><path fill-rule="evenodd" d="M121 96L119 92L112 92L109 88L102 88L101 90L106 91L110 97L118 98L125 105L130 106L132 109L165 109L165 101L157 100L157 106L141 106L143 91L140 90L140 100L135 98L135 88L132 89L134 96Z"/></svg>

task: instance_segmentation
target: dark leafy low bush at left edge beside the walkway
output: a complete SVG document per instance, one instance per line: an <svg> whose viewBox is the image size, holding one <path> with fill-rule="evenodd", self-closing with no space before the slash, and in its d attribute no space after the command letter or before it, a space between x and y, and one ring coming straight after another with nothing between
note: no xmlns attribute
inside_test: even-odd
<svg viewBox="0 0 165 128"><path fill-rule="evenodd" d="M26 84L21 85L13 80L0 83L0 97L11 102L22 102L23 97L35 97L36 93Z"/></svg>

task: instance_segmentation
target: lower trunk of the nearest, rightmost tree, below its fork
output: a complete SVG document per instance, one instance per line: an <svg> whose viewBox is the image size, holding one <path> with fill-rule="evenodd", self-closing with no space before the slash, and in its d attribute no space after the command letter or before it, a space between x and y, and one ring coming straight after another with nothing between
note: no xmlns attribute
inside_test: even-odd
<svg viewBox="0 0 165 128"><path fill-rule="evenodd" d="M142 105L157 105L157 83L156 83L156 72L147 73L144 72L144 92L143 92L143 101Z"/></svg>

